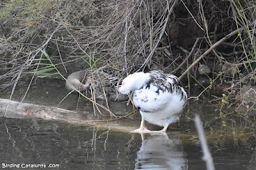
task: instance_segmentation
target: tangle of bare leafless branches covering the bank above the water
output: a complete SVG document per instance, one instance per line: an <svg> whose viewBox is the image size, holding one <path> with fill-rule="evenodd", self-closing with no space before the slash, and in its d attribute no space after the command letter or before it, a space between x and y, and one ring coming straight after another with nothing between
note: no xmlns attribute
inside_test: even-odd
<svg viewBox="0 0 256 170"><path fill-rule="evenodd" d="M255 10L254 1L231 0L3 1L1 88L42 69L45 50L58 56L63 72L70 61L88 61L86 53L94 52L97 66L119 77L160 69L189 71L184 79L200 82L197 68L205 64L209 86L227 84L231 95L255 81Z"/></svg>

